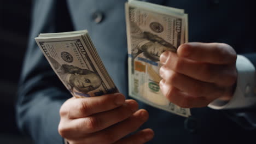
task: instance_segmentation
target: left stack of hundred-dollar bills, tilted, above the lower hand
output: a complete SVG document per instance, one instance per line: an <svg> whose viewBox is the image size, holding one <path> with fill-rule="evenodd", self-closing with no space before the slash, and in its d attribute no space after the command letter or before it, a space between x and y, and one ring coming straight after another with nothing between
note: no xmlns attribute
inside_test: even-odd
<svg viewBox="0 0 256 144"><path fill-rule="evenodd" d="M40 34L38 46L74 97L95 97L118 92L88 31Z"/></svg>

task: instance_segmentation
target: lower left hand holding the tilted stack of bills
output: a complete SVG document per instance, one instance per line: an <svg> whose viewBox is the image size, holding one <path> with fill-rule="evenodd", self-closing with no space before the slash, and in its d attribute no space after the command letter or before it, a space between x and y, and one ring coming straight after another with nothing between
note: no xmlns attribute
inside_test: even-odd
<svg viewBox="0 0 256 144"><path fill-rule="evenodd" d="M120 93L71 98L61 106L59 133L69 144L145 143L153 138L153 130L123 138L148 119L146 110L137 109L135 100L125 100Z"/></svg>

